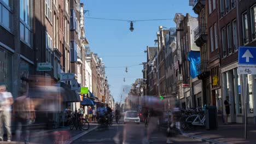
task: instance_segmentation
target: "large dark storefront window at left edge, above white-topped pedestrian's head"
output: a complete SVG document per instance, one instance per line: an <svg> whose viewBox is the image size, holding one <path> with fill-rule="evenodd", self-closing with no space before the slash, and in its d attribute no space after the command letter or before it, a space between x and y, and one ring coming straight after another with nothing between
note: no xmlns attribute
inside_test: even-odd
<svg viewBox="0 0 256 144"><path fill-rule="evenodd" d="M13 92L13 70L10 53L0 49L0 85L5 85L8 92Z"/></svg>

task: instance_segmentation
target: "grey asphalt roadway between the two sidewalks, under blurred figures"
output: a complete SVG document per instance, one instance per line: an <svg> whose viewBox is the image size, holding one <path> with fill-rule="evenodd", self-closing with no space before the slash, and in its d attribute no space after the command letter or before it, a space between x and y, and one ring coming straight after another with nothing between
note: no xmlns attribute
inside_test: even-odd
<svg viewBox="0 0 256 144"><path fill-rule="evenodd" d="M83 135L72 143L122 143L126 139L126 143L143 143L146 139L146 128L141 124L113 124L108 130L94 130L91 133ZM166 143L167 137L163 131L154 131L151 136L150 143ZM173 143L203 143L197 139L191 139L182 135L171 137Z"/></svg>

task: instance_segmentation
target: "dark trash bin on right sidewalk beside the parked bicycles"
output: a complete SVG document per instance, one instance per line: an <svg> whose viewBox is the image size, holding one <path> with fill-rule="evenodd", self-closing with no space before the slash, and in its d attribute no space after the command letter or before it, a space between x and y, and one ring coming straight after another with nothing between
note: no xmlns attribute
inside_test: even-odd
<svg viewBox="0 0 256 144"><path fill-rule="evenodd" d="M217 129L217 109L216 106L207 106L205 110L205 128L207 130Z"/></svg>

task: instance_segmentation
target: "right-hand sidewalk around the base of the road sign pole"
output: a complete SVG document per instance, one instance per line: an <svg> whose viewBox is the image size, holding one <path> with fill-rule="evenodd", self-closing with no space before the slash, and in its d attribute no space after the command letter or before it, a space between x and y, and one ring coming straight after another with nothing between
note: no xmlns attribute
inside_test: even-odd
<svg viewBox="0 0 256 144"><path fill-rule="evenodd" d="M201 139L210 143L256 143L256 125L248 125L248 139L244 139L244 124L220 123L217 130L188 130L183 135Z"/></svg>

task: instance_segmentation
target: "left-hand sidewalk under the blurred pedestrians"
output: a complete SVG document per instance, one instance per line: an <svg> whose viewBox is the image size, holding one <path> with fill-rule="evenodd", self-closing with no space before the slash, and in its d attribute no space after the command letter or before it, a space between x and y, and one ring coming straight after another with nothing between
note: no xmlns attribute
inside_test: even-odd
<svg viewBox="0 0 256 144"><path fill-rule="evenodd" d="M78 139L80 136L83 136L86 133L97 128L98 124L90 124L89 130L70 130L69 127L67 128L58 128L53 130L33 130L30 131L30 144L36 143L54 143L54 141L63 140L64 143L71 143L73 140ZM15 137L15 135L13 135ZM12 142L0 142L1 144L5 143L17 143L15 139ZM20 142L24 143L24 142Z"/></svg>

